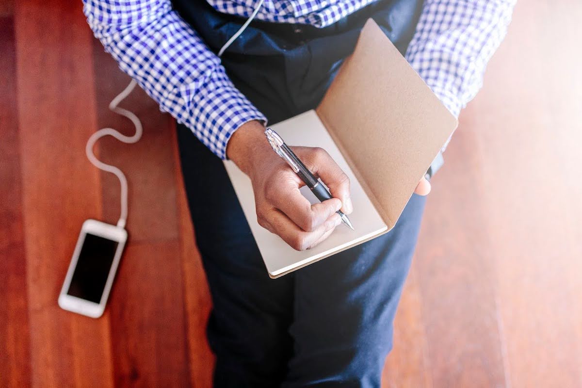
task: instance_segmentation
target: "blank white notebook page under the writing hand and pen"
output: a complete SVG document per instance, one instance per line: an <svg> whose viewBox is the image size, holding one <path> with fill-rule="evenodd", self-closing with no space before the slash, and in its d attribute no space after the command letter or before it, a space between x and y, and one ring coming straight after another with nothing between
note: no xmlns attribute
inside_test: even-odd
<svg viewBox="0 0 582 388"><path fill-rule="evenodd" d="M382 220L374 205L372 205L372 202L365 194L315 111L307 111L301 115L294 116L291 119L271 126L271 128L281 135L285 143L290 146L303 145L306 147L324 148L336 163L338 163L340 168L343 169L350 178L351 183L354 210L349 215L349 218L355 230L350 230L341 223L336 227L331 236L317 245L317 247L301 252L294 250L281 237L272 234L267 229L258 225L251 181L249 177L237 168L235 163L226 161L226 171L235 187L236 195L239 197L244 215L249 222L255 241L257 241L269 275L281 275L289 270L299 268L300 266L327 257L335 252L339 252L360 241L374 237L388 229L386 223ZM354 128L354 130L357 131L357 128ZM307 187L301 188L301 193L312 203L317 201L315 195Z"/></svg>

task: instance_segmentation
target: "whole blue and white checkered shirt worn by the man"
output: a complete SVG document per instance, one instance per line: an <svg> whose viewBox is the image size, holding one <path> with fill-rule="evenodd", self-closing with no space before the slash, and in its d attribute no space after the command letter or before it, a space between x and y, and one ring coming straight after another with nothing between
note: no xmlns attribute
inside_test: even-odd
<svg viewBox="0 0 582 388"><path fill-rule="evenodd" d="M259 0L208 0L219 12L248 17ZM373 0L265 0L256 18L325 27ZM515 0L426 0L406 59L458 116L481 87L505 36ZM178 122L220 158L242 124L264 120L233 86L220 59L172 9L171 0L84 0L95 36Z"/></svg>

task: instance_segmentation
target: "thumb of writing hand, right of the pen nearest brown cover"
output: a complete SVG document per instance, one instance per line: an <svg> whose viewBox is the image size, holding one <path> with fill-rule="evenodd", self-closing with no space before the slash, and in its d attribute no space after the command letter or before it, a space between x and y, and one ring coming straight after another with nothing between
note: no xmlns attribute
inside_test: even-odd
<svg viewBox="0 0 582 388"><path fill-rule="evenodd" d="M297 147L301 148L301 147ZM303 154L304 152L301 152ZM314 175L319 176L329 188L333 198L342 201L342 212L350 214L353 211L352 200L350 198L350 179L346 173L338 166L331 156L322 148L309 148L306 152L308 168Z"/></svg>

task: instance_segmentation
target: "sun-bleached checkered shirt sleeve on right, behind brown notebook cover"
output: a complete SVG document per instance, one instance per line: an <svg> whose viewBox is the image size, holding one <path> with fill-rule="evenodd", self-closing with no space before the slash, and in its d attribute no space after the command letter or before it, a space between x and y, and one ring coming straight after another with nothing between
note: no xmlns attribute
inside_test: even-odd
<svg viewBox="0 0 582 388"><path fill-rule="evenodd" d="M482 86L516 0L427 0L406 59L455 116Z"/></svg>

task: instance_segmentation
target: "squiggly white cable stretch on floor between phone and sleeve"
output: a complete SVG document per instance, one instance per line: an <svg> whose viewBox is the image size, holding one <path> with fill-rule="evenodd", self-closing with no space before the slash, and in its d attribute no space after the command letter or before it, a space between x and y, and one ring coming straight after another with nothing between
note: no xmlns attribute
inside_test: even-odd
<svg viewBox="0 0 582 388"><path fill-rule="evenodd" d="M122 92L120 92L117 97L113 98L111 103L109 103L109 109L111 111L132 120L133 125L136 127L136 133L134 133L133 136L125 136L113 128L103 128L91 135L89 140L87 140L87 145L85 147L87 158L91 163L93 163L95 167L103 171L111 172L119 179L119 184L121 185L121 212L117 226L122 228L125 227L125 223L127 221L127 179L122 170L115 166L108 165L107 163L103 163L97 159L95 154L93 154L93 146L95 143L97 143L97 140L108 135L113 136L117 140L126 144L137 143L137 141L140 140L141 134L143 133L143 127L141 126L140 119L137 118L134 113L127 111L127 109L119 108L118 106L119 103L122 102L123 99L125 99L132 92L136 85L137 82L132 80L129 85L127 85L127 87Z"/></svg>

